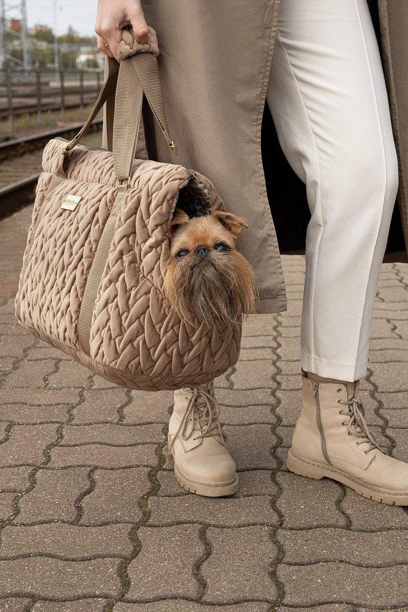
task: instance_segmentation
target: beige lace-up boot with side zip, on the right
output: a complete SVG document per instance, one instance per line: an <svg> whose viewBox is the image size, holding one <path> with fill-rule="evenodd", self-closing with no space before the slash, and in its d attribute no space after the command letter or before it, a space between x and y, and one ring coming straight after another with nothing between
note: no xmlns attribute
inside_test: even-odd
<svg viewBox="0 0 408 612"><path fill-rule="evenodd" d="M303 375L303 406L287 469L343 482L382 504L408 506L408 464L388 457L368 430L355 383L321 383Z"/></svg>

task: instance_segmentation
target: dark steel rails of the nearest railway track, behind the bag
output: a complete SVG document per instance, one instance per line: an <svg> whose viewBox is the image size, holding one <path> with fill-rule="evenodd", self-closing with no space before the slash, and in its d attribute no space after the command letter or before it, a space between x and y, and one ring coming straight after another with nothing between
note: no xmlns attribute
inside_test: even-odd
<svg viewBox="0 0 408 612"><path fill-rule="evenodd" d="M69 125L57 130L51 130L50 132L43 132L41 134L35 134L34 136L28 136L27 138L18 138L17 140L0 143L0 171L2 170L2 161L18 158L24 156L24 154L31 154L33 151L43 149L45 144L56 136L63 136L68 140L72 136L75 136L82 126L83 124ZM102 119L97 119L91 125L89 132L95 132L100 129L102 129ZM22 165L21 162L19 165ZM13 174L8 173L7 176L13 176ZM0 188L0 218L7 217L7 215L12 214L12 212L34 201L35 187L39 176L39 172L33 173L30 176L25 176L18 181L14 181Z"/></svg>

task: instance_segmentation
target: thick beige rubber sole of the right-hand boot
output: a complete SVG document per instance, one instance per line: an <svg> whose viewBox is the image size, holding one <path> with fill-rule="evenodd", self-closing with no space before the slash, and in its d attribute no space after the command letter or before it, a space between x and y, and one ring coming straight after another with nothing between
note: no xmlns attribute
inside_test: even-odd
<svg viewBox="0 0 408 612"><path fill-rule="evenodd" d="M289 471L298 474L299 476L305 476L306 478L313 478L314 480L321 480L322 478L331 478L338 482L347 485L356 491L356 493L362 495L367 499L372 499L380 504L389 504L390 506L408 506L408 493L402 491L384 490L374 485L368 485L363 480L350 476L339 469L333 468L333 466L327 466L323 463L316 463L310 461L297 453L293 449L287 453L286 466Z"/></svg>

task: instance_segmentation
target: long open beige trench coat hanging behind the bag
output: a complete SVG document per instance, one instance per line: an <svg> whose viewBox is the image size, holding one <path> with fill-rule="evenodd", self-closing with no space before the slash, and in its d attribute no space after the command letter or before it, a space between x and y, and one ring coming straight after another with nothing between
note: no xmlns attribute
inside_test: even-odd
<svg viewBox="0 0 408 612"><path fill-rule="evenodd" d="M157 32L170 135L180 162L212 181L226 210L247 217L237 248L258 277L259 312L286 310L278 242L261 159L261 123L280 0L143 0ZM398 148L408 244L407 0L378 0L384 72ZM149 109L136 157L174 163ZM262 142L262 147L267 143ZM273 206L273 202L271 203Z"/></svg>

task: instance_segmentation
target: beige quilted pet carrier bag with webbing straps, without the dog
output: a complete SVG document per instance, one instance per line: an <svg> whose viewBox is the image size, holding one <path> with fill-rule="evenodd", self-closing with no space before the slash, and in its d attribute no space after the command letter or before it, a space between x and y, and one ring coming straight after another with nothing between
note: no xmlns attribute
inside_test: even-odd
<svg viewBox="0 0 408 612"><path fill-rule="evenodd" d="M109 60L86 125L70 143L57 138L45 147L16 315L28 332L103 378L154 391L222 375L239 357L241 329L192 331L161 291L180 190L212 211L224 207L212 183L177 159L149 33L149 44L139 45L125 32L121 63ZM175 164L135 160L143 92ZM78 145L106 100L112 152Z"/></svg>

